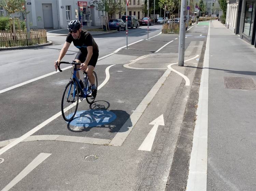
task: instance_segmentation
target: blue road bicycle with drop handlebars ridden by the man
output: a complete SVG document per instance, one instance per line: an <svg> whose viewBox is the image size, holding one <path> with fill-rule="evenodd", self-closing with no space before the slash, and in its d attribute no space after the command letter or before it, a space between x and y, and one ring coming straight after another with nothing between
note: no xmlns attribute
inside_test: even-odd
<svg viewBox="0 0 256 191"><path fill-rule="evenodd" d="M83 83L81 80L77 79L76 72L80 69L76 68L76 65L81 65L80 63L76 63L76 61L72 62L60 62L60 64L71 64L73 77L70 82L67 84L61 100L61 113L62 117L65 121L71 121L77 111L79 99L83 101L86 98L88 104L92 104L96 98L92 97L91 94L91 84L88 79L87 73L85 73L86 83ZM60 64L58 65L58 69L60 72ZM96 72L93 72L93 76L95 78L95 86L98 89L98 78Z"/></svg>

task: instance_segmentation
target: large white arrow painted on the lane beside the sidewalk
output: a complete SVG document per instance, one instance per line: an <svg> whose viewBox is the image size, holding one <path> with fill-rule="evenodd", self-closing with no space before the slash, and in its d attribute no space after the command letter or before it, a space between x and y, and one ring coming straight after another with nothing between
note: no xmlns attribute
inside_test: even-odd
<svg viewBox="0 0 256 191"><path fill-rule="evenodd" d="M152 145L155 140L157 128L159 125L164 126L165 122L163 120L163 115L160 115L158 118L156 118L154 121L150 123L150 125L154 125L154 127L151 129L151 131L148 133L146 138L144 139L143 143L141 144L140 148L138 150L146 150L151 151Z"/></svg>

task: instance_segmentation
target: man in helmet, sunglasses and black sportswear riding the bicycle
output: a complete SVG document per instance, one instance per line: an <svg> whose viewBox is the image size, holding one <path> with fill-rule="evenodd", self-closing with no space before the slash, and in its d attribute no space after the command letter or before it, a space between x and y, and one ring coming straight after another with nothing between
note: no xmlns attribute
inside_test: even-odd
<svg viewBox="0 0 256 191"><path fill-rule="evenodd" d="M57 70L61 59L66 55L68 48L73 42L74 46L79 49L75 57L77 63L81 63L80 69L87 73L89 81L91 83L92 97L97 94L95 86L95 79L93 71L99 57L99 48L96 42L86 30L81 29L81 23L79 20L71 20L68 24L69 34L66 42L60 51L59 58L54 62L55 69ZM79 66L77 66L79 68ZM76 73L76 77L80 79L79 72Z"/></svg>

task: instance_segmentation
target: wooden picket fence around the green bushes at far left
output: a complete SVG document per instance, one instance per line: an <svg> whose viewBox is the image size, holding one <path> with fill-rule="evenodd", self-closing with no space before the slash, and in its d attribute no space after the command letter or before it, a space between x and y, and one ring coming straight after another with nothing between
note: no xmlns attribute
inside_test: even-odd
<svg viewBox="0 0 256 191"><path fill-rule="evenodd" d="M16 30L15 33L9 30L0 31L0 47L28 46L47 43L46 30L31 29L30 39L27 32Z"/></svg>

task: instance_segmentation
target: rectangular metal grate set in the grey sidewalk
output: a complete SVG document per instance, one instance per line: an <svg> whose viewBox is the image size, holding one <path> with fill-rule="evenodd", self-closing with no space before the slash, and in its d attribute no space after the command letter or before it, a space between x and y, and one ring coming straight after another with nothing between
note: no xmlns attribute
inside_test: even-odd
<svg viewBox="0 0 256 191"><path fill-rule="evenodd" d="M254 83L253 78L224 77L224 83L226 88L256 90L256 84Z"/></svg>

